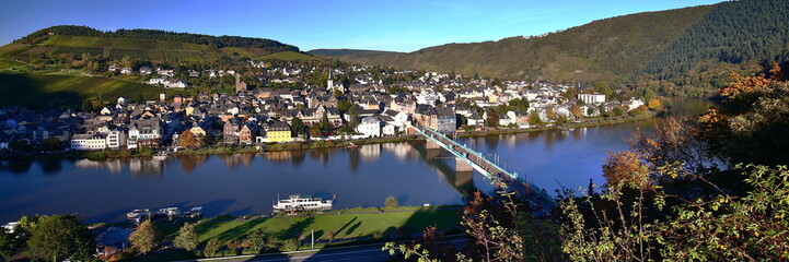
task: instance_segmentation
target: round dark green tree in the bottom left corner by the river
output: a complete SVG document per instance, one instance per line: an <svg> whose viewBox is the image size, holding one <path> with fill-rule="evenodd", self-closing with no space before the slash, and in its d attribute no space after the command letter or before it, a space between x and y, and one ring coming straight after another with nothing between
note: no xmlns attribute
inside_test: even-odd
<svg viewBox="0 0 789 262"><path fill-rule="evenodd" d="M30 234L28 254L36 260L89 260L96 249L93 234L73 215L40 216Z"/></svg>

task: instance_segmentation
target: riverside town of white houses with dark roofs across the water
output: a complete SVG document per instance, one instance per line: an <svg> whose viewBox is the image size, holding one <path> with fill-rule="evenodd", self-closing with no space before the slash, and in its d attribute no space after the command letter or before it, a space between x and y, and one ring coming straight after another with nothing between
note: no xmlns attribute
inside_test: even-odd
<svg viewBox="0 0 789 262"><path fill-rule="evenodd" d="M378 76L371 66L329 69L254 61L246 66L264 70L260 82L276 84L297 83L305 72L328 76L324 86L301 83L301 88L250 90L242 73L233 70L188 70L184 74L192 78L233 78L233 93L199 91L194 96L173 97L162 93L156 100L134 102L118 97L95 111L7 107L0 112L0 148L177 151L218 144L394 136L403 134L408 122L453 133L481 127L527 129L648 110L642 99L622 99L623 95L612 95L610 87L606 96L596 86L465 79L454 73L380 70L376 73L382 76ZM176 75L172 69L142 66L134 70L113 64L107 70L155 74L147 83L190 88L187 81L172 79ZM405 74L414 75L413 80L383 81L388 75ZM339 81L340 75L345 81ZM619 99L611 100L612 96Z"/></svg>

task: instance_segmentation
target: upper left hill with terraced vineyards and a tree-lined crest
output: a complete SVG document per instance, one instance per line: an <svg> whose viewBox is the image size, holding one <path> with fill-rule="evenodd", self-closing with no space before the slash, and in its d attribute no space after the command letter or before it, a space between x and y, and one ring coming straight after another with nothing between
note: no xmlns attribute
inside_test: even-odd
<svg viewBox="0 0 789 262"><path fill-rule="evenodd" d="M50 35L49 33L53 33ZM255 58L299 48L271 39L239 36L208 36L153 29L101 32L86 26L54 26L0 47L0 57L35 59L70 53L129 57L152 61L214 61L223 56Z"/></svg>

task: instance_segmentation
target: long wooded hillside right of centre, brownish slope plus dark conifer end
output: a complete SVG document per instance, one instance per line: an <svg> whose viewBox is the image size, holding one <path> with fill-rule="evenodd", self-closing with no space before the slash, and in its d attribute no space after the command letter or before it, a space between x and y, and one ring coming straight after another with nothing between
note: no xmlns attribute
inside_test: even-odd
<svg viewBox="0 0 789 262"><path fill-rule="evenodd" d="M350 62L522 80L594 82L683 73L705 61L780 59L789 1L742 0L637 13L542 37L449 44L418 51L324 51Z"/></svg>

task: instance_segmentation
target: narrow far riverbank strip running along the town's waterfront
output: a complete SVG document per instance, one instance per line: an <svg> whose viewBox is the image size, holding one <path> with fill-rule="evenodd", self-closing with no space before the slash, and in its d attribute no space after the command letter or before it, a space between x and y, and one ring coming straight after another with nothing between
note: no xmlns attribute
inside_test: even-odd
<svg viewBox="0 0 789 262"><path fill-rule="evenodd" d="M620 116L613 118L593 118L584 119L579 122L568 122L561 126L541 126L534 128L477 128L475 130L468 130L455 133L459 138L478 138L487 135L501 135L501 134L518 134L537 131L550 131L550 130L569 130L577 128L588 127L600 127L617 123L626 123L646 120L657 117L659 114L649 111L647 114L638 116ZM283 151L300 151L300 150L318 150L318 148L338 148L348 147L351 145L366 145L366 144L385 144L385 143L399 143L409 141L421 141L425 140L416 134L399 135L399 136L384 136L384 138L371 138L361 140L329 140L329 141L294 141L288 143L267 143L259 145L241 145L241 146L212 146L206 148L182 148L178 152L173 152L173 156L188 156L188 155L221 155L221 154L254 154L265 152L283 152ZM65 152L0 152L0 159L2 160L47 160L47 159L91 159L91 160L103 160L103 159L116 159L116 158L151 158L155 152L153 150L120 150L120 151L94 151L94 152L82 152L82 151L65 151Z"/></svg>

